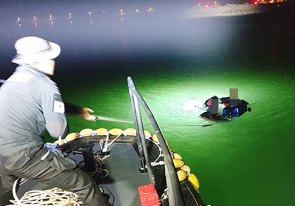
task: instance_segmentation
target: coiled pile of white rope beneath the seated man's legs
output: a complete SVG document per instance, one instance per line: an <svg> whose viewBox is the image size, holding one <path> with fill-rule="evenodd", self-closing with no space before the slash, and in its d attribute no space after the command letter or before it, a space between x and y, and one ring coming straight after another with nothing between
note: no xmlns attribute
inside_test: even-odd
<svg viewBox="0 0 295 206"><path fill-rule="evenodd" d="M20 179L20 178L19 178ZM68 192L57 187L47 190L32 190L24 193L21 199L18 199L16 194L17 179L13 184L13 197L15 200L10 200L14 205L7 206L83 206L78 195L73 192Z"/></svg>

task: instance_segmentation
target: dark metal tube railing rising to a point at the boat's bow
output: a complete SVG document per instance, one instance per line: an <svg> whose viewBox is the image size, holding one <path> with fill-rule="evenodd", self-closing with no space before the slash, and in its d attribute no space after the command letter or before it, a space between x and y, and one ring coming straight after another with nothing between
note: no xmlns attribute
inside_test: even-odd
<svg viewBox="0 0 295 206"><path fill-rule="evenodd" d="M155 117L150 111L148 105L146 104L145 100L141 97L141 95L135 88L131 77L128 77L127 81L128 81L128 88L129 88L133 118L135 122L135 129L137 134L136 138L137 138L139 157L140 157L140 163L141 163L140 171L148 172L151 183L156 185L155 176L154 176L153 169L148 157L148 148L145 141L139 103L141 104L142 108L145 110L145 113L148 116L150 123L153 126L153 129L155 130L155 134L157 135L157 138L160 143L160 147L164 155L165 176L166 176L166 183L167 183L167 189L168 189L169 206L184 206L184 200L183 200L178 176L171 158L170 151L165 142L163 133L158 123L156 122Z"/></svg>

